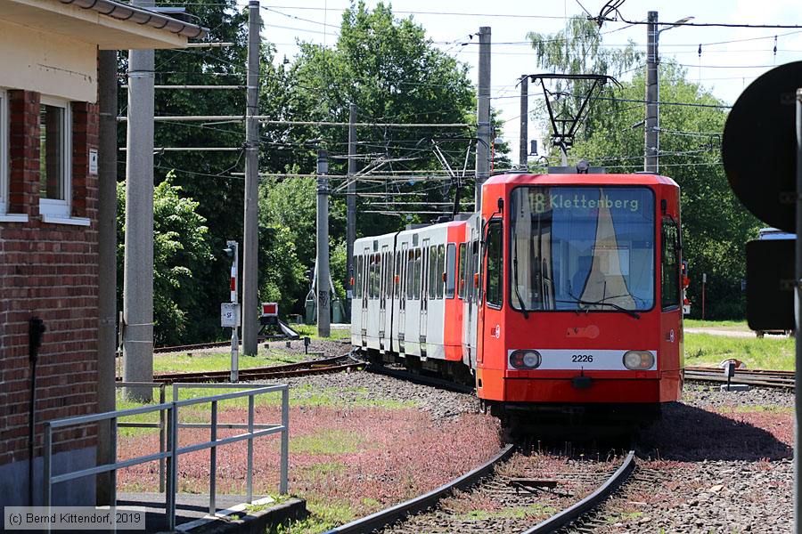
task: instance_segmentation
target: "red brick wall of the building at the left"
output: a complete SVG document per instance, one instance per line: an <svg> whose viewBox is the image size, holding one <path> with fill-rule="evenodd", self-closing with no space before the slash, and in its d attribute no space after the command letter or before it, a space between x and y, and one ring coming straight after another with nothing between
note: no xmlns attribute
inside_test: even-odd
<svg viewBox="0 0 802 534"><path fill-rule="evenodd" d="M45 321L37 364L37 449L41 421L94 413L97 407L97 147L95 104L72 103L72 216L89 227L39 217L39 95L9 91L9 212L28 223L0 223L0 465L28 459L28 320ZM95 444L94 426L58 434L55 450ZM54 441L57 442L57 441Z"/></svg>

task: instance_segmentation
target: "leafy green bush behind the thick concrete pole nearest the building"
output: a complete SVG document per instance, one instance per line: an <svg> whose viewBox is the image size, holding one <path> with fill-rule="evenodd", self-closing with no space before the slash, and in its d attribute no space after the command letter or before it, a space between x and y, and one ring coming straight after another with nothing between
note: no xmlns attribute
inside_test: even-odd
<svg viewBox="0 0 802 534"><path fill-rule="evenodd" d="M182 198L173 176L153 191L153 338L156 344L179 344L199 328L201 280L209 273L209 237L198 202ZM118 279L125 255L125 184L117 188ZM119 287L119 306L122 303Z"/></svg>

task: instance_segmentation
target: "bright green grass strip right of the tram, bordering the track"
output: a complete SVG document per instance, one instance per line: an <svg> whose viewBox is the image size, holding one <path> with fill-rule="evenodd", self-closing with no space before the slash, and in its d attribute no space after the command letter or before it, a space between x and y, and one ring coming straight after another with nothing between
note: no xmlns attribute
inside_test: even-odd
<svg viewBox="0 0 802 534"><path fill-rule="evenodd" d="M717 366L734 358L747 368L794 369L794 343L788 337L726 337L685 334L685 365Z"/></svg>

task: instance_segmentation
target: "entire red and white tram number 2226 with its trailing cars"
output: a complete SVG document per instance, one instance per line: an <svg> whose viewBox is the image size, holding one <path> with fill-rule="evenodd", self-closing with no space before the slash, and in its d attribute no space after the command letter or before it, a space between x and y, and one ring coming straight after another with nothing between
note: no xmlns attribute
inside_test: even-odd
<svg viewBox="0 0 802 534"><path fill-rule="evenodd" d="M679 399L679 187L654 174L503 174L477 213L357 239L351 339L469 379L495 411Z"/></svg>

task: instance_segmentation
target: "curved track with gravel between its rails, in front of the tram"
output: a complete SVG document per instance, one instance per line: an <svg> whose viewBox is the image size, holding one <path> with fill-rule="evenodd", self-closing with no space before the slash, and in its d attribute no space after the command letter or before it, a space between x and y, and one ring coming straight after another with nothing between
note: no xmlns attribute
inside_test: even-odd
<svg viewBox="0 0 802 534"><path fill-rule="evenodd" d="M527 457L512 457L508 445L487 464L437 490L329 530L327 534L556 532L580 520L618 490L634 470L634 451L629 451L613 469L581 461L567 462L567 470L561 473L524 467L527 476L512 476L511 473L520 474L520 464L526 461ZM546 472L551 478L542 480ZM455 492L471 487L470 492ZM580 494L586 497L577 502ZM533 525L534 518L544 516Z"/></svg>

